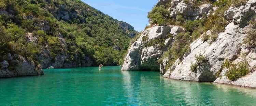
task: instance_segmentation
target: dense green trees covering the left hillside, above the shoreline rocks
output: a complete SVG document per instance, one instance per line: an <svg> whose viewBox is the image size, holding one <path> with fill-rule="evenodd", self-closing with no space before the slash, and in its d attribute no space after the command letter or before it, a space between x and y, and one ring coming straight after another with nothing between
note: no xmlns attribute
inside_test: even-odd
<svg viewBox="0 0 256 106"><path fill-rule="evenodd" d="M65 62L89 57L94 65L118 65L129 46L116 20L80 0L1 0L0 10L8 12L0 15L0 57L10 52L39 62L48 45L53 62L60 54L68 56ZM28 42L28 33L38 41Z"/></svg>

